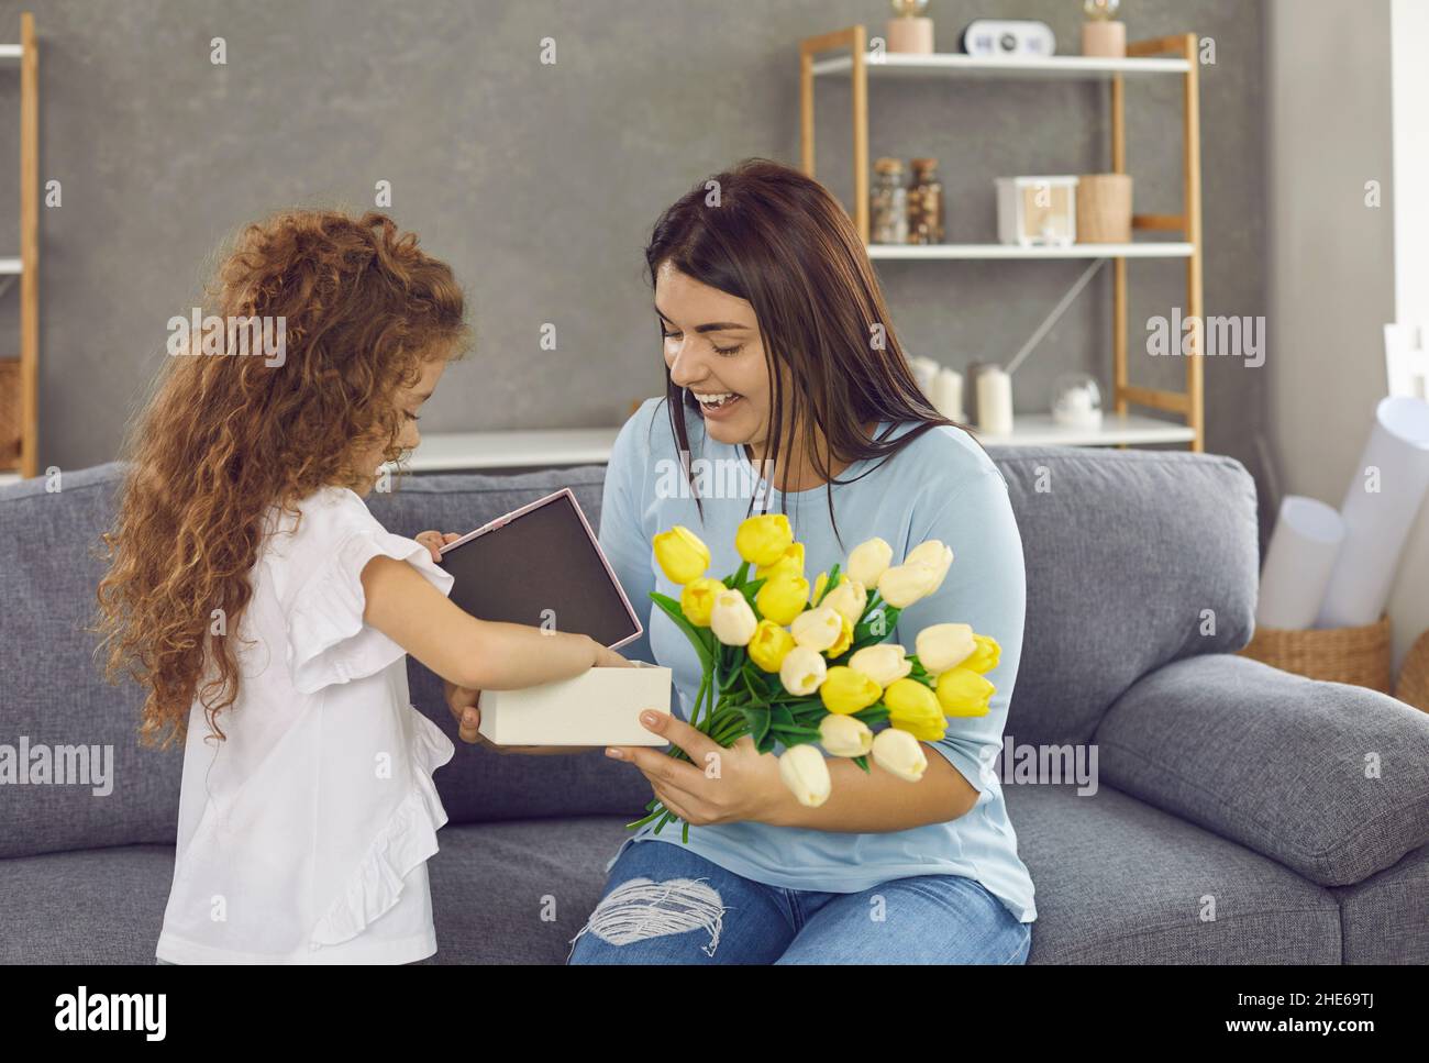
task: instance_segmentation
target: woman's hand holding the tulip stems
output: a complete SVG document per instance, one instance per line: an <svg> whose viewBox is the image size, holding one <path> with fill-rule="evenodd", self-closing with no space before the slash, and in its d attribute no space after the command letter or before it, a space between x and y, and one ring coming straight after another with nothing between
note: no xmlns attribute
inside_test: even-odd
<svg viewBox="0 0 1429 1063"><path fill-rule="evenodd" d="M640 723L684 750L693 763L649 746L612 746L606 754L640 769L664 807L692 826L773 823L786 799L792 800L779 779L779 759L759 753L747 734L725 749L669 713L647 709Z"/></svg>

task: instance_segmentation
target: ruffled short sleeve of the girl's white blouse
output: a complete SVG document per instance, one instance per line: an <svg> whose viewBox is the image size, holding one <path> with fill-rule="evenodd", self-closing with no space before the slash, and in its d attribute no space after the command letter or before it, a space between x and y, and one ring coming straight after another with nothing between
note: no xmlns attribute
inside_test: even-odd
<svg viewBox="0 0 1429 1063"><path fill-rule="evenodd" d="M386 532L356 494L336 513L313 516L313 532L326 542L310 542L294 553L294 563L306 560L312 574L302 579L286 610L289 672L293 687L303 694L376 674L406 653L363 622L367 602L362 572L373 557L407 562L443 594L453 583L452 573L437 567L427 547Z"/></svg>

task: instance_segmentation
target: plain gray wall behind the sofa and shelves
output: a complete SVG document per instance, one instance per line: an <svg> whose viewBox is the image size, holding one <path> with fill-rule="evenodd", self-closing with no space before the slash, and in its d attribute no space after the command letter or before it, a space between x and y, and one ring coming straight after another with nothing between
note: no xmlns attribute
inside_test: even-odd
<svg viewBox="0 0 1429 1063"><path fill-rule="evenodd" d="M797 41L863 21L882 0L532 0L532 3L0 3L0 37L36 11L41 39L41 463L113 456L163 361L166 321L193 306L234 226L287 204L372 203L447 257L479 349L423 419L432 431L619 423L660 389L642 247L660 209L743 156L797 161ZM935 0L940 50L987 11L1043 19L1077 51L1080 6ZM1202 70L1208 313L1265 313L1262 6L1135 0L1132 37L1193 30ZM227 66L209 40L227 40ZM537 61L557 41L556 66ZM943 161L949 239L993 234L992 179L1109 169L1105 86L877 81L872 150ZM1129 86L1139 211L1180 194L1176 79ZM17 79L0 71L0 150L16 141ZM846 86L819 89L819 173L847 196ZM0 159L11 159L3 154ZM0 169L0 201L16 201ZM10 230L13 231L13 230ZM0 241L3 243L3 241ZM1006 361L1076 279L1076 261L883 263L912 353L956 367ZM1183 306L1183 267L1132 263L1139 323ZM1019 411L1045 410L1065 369L1110 384L1110 277L1016 376ZM16 327L14 297L0 334ZM559 350L542 351L542 323ZM1208 449L1256 466L1262 373L1208 359ZM1135 359L1133 381L1179 386L1176 359Z"/></svg>

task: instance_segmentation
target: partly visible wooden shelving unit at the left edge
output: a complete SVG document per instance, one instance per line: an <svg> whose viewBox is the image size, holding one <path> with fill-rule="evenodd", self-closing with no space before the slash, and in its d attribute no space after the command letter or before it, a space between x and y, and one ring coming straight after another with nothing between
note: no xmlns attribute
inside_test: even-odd
<svg viewBox="0 0 1429 1063"><path fill-rule="evenodd" d="M0 44L0 66L11 64L20 67L20 257L0 259L0 277L20 277L20 354L0 357L0 483L39 474L40 60L29 11L20 43Z"/></svg>

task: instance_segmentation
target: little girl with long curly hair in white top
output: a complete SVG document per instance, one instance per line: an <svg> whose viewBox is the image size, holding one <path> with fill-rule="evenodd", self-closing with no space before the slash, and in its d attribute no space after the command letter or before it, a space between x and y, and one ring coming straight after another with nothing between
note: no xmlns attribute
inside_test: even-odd
<svg viewBox="0 0 1429 1063"><path fill-rule="evenodd" d="M141 740L184 740L157 956L420 960L447 819L432 773L454 747L410 704L406 654L454 712L626 662L462 612L443 536L392 534L363 501L464 349L449 266L383 214L294 210L243 231L214 297L221 350L194 336L166 367L99 589L110 676L146 692ZM276 357L240 334L256 327Z"/></svg>

